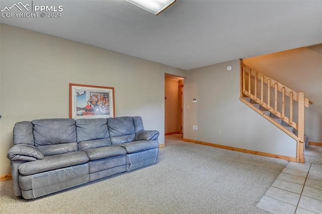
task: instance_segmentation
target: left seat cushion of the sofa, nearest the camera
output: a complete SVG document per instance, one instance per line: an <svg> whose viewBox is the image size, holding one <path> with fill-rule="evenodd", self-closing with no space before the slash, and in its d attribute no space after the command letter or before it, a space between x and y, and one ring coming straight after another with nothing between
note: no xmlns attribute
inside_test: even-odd
<svg viewBox="0 0 322 214"><path fill-rule="evenodd" d="M76 151L63 154L45 156L42 160L30 161L19 166L20 174L30 175L40 172L78 165L89 161L85 152Z"/></svg>

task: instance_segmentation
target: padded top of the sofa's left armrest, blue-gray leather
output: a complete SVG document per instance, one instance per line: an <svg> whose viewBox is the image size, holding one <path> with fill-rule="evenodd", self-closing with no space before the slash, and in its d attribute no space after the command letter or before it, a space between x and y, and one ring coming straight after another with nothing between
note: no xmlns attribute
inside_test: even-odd
<svg viewBox="0 0 322 214"><path fill-rule="evenodd" d="M33 145L17 144L14 145L7 154L10 160L34 161L44 158L44 155Z"/></svg>

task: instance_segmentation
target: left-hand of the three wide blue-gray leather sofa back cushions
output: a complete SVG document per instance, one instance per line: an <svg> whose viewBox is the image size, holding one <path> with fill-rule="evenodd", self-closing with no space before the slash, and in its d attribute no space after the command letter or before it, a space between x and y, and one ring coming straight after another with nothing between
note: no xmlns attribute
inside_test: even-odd
<svg viewBox="0 0 322 214"><path fill-rule="evenodd" d="M31 122L35 146L45 156L77 151L74 119L40 119Z"/></svg>

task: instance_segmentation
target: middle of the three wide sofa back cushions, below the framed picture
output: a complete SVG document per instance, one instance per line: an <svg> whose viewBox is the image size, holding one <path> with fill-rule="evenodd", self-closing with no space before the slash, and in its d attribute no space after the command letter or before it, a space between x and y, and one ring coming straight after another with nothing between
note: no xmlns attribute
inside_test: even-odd
<svg viewBox="0 0 322 214"><path fill-rule="evenodd" d="M79 151L112 145L105 118L76 119L75 122Z"/></svg>

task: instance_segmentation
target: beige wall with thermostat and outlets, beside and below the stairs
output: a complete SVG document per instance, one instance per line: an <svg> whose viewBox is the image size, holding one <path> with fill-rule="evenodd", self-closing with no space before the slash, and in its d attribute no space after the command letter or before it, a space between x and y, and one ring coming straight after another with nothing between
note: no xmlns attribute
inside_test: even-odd
<svg viewBox="0 0 322 214"><path fill-rule="evenodd" d="M296 141L239 100L239 71L239 60L188 71L184 138L296 157Z"/></svg>

